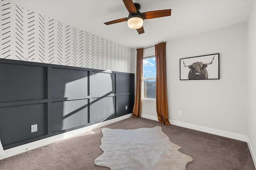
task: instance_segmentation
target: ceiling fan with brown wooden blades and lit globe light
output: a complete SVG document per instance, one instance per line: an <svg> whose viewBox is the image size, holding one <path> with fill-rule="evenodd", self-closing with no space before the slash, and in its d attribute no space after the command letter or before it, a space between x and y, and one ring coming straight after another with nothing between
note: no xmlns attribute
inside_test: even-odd
<svg viewBox="0 0 256 170"><path fill-rule="evenodd" d="M140 4L133 3L132 0L123 0L126 9L129 12L127 18L121 18L114 21L105 22L106 25L127 21L128 27L137 29L139 34L144 33L143 22L147 19L159 18L171 15L171 9L158 10L140 13Z"/></svg>

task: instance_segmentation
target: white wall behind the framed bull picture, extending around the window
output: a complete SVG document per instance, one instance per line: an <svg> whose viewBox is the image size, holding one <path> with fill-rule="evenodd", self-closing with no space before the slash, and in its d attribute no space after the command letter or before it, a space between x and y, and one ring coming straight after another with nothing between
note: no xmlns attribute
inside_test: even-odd
<svg viewBox="0 0 256 170"><path fill-rule="evenodd" d="M244 22L166 42L168 111L172 122L247 135L246 29ZM220 53L220 80L180 80L181 58L214 53ZM142 117L152 116L156 117L155 102L143 100Z"/></svg>

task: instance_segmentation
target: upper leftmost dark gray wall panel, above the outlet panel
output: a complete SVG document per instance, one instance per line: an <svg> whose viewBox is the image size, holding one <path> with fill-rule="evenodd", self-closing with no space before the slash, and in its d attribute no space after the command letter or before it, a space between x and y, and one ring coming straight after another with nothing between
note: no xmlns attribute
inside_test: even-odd
<svg viewBox="0 0 256 170"><path fill-rule="evenodd" d="M0 63L0 101L47 99L47 67Z"/></svg>

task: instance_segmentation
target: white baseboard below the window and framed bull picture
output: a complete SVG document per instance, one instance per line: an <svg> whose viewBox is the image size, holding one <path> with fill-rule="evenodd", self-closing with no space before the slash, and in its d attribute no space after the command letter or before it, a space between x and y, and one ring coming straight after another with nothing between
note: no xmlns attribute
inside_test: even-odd
<svg viewBox="0 0 256 170"><path fill-rule="evenodd" d="M141 117L158 121L156 116L141 114ZM212 128L209 128L209 127L193 125L193 124L190 124L190 123L184 123L184 122L175 121L175 120L171 120L171 119L169 119L169 121L172 125L176 125L176 126L180 126L180 127L186 127L188 129L193 129L193 130L196 130L196 131L206 132L206 133L210 133L210 134L214 134L214 135L219 135L219 136L222 136L222 137L228 137L228 138L231 138L231 139L236 139L236 140L244 141L244 142L247 142L247 140L248 140L248 137L246 135L240 135L240 134L237 134L237 133L222 131L222 130L218 130L218 129L212 129Z"/></svg>

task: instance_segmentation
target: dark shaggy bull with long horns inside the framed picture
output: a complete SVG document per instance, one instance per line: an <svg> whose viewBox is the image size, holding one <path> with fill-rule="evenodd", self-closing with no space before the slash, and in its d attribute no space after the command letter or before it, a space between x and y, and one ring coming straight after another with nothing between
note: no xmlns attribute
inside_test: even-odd
<svg viewBox="0 0 256 170"><path fill-rule="evenodd" d="M190 71L188 72L188 80L193 80L193 79L208 79L208 72L206 70L206 67L209 64L212 64L214 61L214 57L210 63L203 63L203 62L195 62L191 65L186 65L183 60L183 64L185 67L188 67Z"/></svg>

